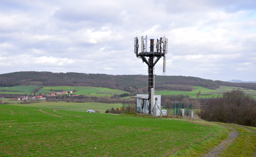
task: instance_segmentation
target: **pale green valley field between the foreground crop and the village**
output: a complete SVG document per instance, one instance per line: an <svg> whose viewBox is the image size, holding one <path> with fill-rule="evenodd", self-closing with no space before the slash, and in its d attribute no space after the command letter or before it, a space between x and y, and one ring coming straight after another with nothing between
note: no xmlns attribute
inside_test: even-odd
<svg viewBox="0 0 256 157"><path fill-rule="evenodd" d="M63 110L73 110L86 112L89 109L94 111L99 111L100 113L105 113L107 109L114 109L123 107L122 103L66 103L66 102L40 102L40 103L29 103L29 104L10 104L14 106L30 106L30 107L40 107L48 109L63 109Z"/></svg>

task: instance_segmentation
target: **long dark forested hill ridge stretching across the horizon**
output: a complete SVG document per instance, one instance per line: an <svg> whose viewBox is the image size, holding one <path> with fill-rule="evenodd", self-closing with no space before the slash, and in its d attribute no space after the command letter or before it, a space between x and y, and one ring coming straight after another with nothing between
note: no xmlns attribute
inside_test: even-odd
<svg viewBox="0 0 256 157"><path fill-rule="evenodd" d="M0 87L18 85L43 85L43 86L87 86L107 87L129 91L131 89L146 89L148 86L147 75L107 75L84 73L52 73L21 71L0 74ZM173 86L183 85L183 86ZM242 87L256 90L256 83L229 83L224 81L206 80L199 77L185 76L158 76L156 75L156 90L190 90L190 86L201 86L217 89L219 86ZM192 89L191 89L192 90Z"/></svg>

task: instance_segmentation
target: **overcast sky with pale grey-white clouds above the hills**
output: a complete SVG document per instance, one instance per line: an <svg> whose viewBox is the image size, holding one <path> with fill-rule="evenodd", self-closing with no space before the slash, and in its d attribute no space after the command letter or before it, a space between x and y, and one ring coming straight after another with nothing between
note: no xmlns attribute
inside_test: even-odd
<svg viewBox="0 0 256 157"><path fill-rule="evenodd" d="M168 38L168 76L256 81L256 0L0 0L0 74L147 75L142 35Z"/></svg>

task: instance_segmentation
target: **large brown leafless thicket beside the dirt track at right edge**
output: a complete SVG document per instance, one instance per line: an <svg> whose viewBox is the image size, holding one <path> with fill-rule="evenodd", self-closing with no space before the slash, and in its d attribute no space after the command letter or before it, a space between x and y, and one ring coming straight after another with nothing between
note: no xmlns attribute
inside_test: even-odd
<svg viewBox="0 0 256 157"><path fill-rule="evenodd" d="M243 90L232 90L222 98L207 99L199 116L207 121L256 126L256 101Z"/></svg>

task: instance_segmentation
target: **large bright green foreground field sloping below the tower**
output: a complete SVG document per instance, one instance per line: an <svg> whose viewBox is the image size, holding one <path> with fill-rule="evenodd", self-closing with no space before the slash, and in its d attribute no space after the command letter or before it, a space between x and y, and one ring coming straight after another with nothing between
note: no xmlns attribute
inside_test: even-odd
<svg viewBox="0 0 256 157"><path fill-rule="evenodd" d="M227 137L203 121L39 109L0 105L0 156L202 156Z"/></svg>

